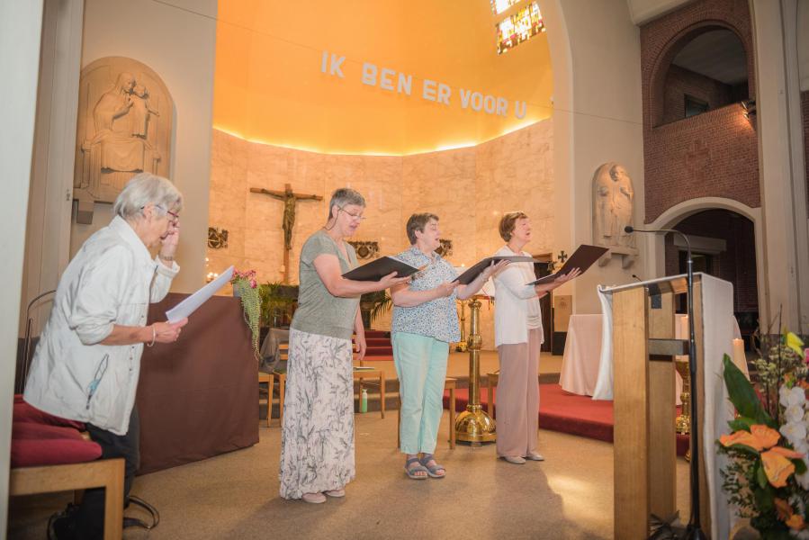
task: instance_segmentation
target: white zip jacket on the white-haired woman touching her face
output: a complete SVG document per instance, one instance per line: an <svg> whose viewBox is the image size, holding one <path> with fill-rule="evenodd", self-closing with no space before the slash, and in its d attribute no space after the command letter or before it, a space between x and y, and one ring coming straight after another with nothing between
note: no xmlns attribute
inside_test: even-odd
<svg viewBox="0 0 809 540"><path fill-rule="evenodd" d="M143 344L101 345L115 324L144 326L149 302L168 293L179 266L152 260L115 217L87 239L59 280L33 356L24 399L50 414L125 435Z"/></svg>

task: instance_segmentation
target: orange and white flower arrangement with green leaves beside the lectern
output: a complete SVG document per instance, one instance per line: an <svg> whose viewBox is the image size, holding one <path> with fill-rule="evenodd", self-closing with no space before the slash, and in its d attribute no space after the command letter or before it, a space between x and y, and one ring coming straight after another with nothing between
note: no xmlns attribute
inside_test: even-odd
<svg viewBox="0 0 809 540"><path fill-rule="evenodd" d="M762 338L751 383L724 356L724 383L737 416L719 438L728 456L723 490L765 540L809 540L809 348L792 332Z"/></svg>

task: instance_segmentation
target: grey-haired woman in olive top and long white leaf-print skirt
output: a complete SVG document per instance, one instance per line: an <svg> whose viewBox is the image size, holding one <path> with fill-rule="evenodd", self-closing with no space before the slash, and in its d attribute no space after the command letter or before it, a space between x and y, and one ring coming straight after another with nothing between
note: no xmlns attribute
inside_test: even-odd
<svg viewBox="0 0 809 540"><path fill-rule="evenodd" d="M281 430L281 496L321 503L344 497L355 476L354 369L365 355L360 295L409 280L393 272L378 282L343 277L355 268L345 240L365 219L365 199L344 187L331 195L326 225L301 248L298 309L290 325Z"/></svg>

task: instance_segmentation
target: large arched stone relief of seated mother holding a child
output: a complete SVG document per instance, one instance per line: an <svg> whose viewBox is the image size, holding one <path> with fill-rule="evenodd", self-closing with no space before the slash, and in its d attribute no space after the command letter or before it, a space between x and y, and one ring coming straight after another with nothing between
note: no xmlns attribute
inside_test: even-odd
<svg viewBox="0 0 809 540"><path fill-rule="evenodd" d="M99 58L82 69L73 198L76 220L113 202L133 175L168 176L174 102L160 76L138 60Z"/></svg>

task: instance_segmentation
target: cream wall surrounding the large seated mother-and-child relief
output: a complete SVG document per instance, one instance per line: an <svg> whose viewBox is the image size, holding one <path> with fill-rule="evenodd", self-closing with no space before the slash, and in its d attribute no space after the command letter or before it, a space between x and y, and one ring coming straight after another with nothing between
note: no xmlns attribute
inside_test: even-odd
<svg viewBox="0 0 809 540"><path fill-rule="evenodd" d="M170 177L184 194L172 290L204 284L211 168L216 0L85 0L82 67L98 58L135 58L157 72L175 102ZM70 254L112 219L96 204L92 225L73 224Z"/></svg>

